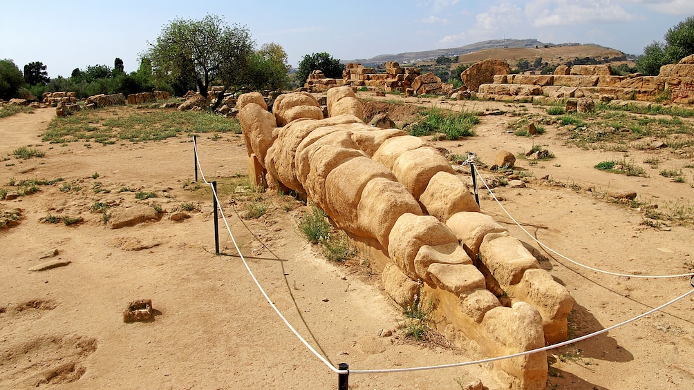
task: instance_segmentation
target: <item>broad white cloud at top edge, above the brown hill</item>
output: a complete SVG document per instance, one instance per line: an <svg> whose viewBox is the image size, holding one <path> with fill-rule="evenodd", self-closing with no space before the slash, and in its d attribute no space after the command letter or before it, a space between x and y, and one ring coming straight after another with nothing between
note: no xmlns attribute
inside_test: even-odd
<svg viewBox="0 0 694 390"><path fill-rule="evenodd" d="M634 19L612 0L533 0L526 4L525 15L534 27L619 23Z"/></svg>

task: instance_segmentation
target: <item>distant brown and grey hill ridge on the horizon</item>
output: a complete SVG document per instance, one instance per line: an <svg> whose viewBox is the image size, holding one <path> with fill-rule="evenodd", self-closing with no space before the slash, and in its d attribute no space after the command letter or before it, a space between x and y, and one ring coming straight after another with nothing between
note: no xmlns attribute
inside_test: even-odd
<svg viewBox="0 0 694 390"><path fill-rule="evenodd" d="M480 53L482 52L482 53ZM480 55L474 55L479 53ZM493 53L493 55L492 55ZM631 56L615 50L595 44L545 44L537 39L492 39L489 41L477 42L456 48L440 48L430 51L415 51L411 53L382 54L369 59L362 60L342 60L346 64L349 62L359 62L364 66L375 66L386 61L397 61L400 64L413 62L425 62L434 60L437 57L460 56L460 62L477 62L484 58L497 58L499 60L518 60L518 58L543 57L545 61L562 62L584 57L607 57L631 60ZM489 56L491 55L491 56ZM482 58L484 57L484 58Z"/></svg>

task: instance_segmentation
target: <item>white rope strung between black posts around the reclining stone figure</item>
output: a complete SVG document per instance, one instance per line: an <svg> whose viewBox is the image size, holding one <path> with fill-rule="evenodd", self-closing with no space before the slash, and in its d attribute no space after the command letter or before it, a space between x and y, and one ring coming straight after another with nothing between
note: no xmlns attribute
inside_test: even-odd
<svg viewBox="0 0 694 390"><path fill-rule="evenodd" d="M246 262L246 258L244 258L244 255L241 253L241 249L239 249L239 246L237 245L237 242L236 242L236 240L235 240L235 238L234 238L234 235L231 233L231 228L229 227L229 223L228 223L228 221L226 220L226 215L224 215L224 212L223 212L223 210L222 210L222 208L221 208L221 204L219 203L219 197L217 197L217 190L215 190L214 187L212 186L212 184L211 184L210 182L208 182L207 179L205 179L205 174L204 174L204 172L203 172L203 169L202 169L202 166L201 166L201 164L200 164L199 157L198 157L197 143L196 143L195 141L194 141L194 143L193 143L193 147L194 147L194 152L195 152L195 159L196 159L196 162L197 162L198 169L200 170L201 177L203 178L203 181L205 182L205 184L208 184L208 186L210 186L210 187L212 188L212 194L214 195L214 199L217 201L217 205L218 205L219 211L220 211L220 213L221 213L221 218L222 218L222 220L224 221L224 225L225 225L225 227L226 227L226 230L227 230L227 232L229 233L229 236L230 236L230 238L231 238L231 240L232 240L232 243L234 244L234 248L236 249L237 253L239 254L239 258L241 258L242 262L244 263L244 266L246 267L246 271L248 271L248 274L249 274L249 275L251 276L251 278L253 279L253 282L254 282L255 285L257 286L258 290L260 290L261 294L264 296L264 298L265 298L265 300L267 301L267 303L269 303L269 305L271 306L271 308L273 308L273 310L275 310L276 314L278 314L278 316L280 317L280 319L282 319L282 321L285 323L285 325L289 328L289 330L291 330L292 333L294 333L294 335L302 342L302 344L304 344L304 346L306 346L306 348L308 348L309 351L311 351L314 355L316 355L316 357L318 357L319 360L321 360L321 362L323 362L323 364L325 364L325 366L328 366L328 369L330 369L332 372L337 373L337 374L339 374L339 375L349 375L350 373L353 373L353 374L398 373L398 372L407 372L407 371L425 371L425 370L433 370L433 369L447 369L447 368L452 368L452 367L470 366L470 365L473 365L473 364L482 364L482 363L488 363L488 362L496 362L496 361L498 361L498 360L505 360L505 359L510 359L510 358L513 358L513 357L521 357L521 356L525 356L525 355L530 355L530 354L532 354L532 353L539 353L539 352L549 351L549 350L551 350L551 349L560 348L560 347L562 347L562 346L567 346L567 345L570 345L570 344L574 344L574 343L580 342L580 341L582 341L582 340L584 340L584 339L589 339L589 338L591 338L591 337L594 337L594 336L597 336L597 335L601 335L602 333L607 333L607 332L609 332L610 330L619 328L620 326L625 326L625 325L627 325L628 323L632 323L632 322L634 322L634 321L636 321L636 320L638 320L638 319L641 319L641 318L646 317L646 316L648 316L648 315L650 315L650 314L652 314L652 313L654 313L654 312L657 312L658 310L661 310L661 309L663 309L663 308L666 308L667 306L672 305L672 303L675 303L675 302L677 302L677 301L679 301L679 300L681 300L681 299L684 299L686 296L688 296L688 295L694 293L694 274L678 275L678 276L692 276L690 283L691 283L693 289L690 290L689 292L686 292L685 294L682 294L681 296L678 296L678 297L675 298L675 299L672 299L672 301L669 301L668 303L664 303L663 305L660 305L660 306L658 306L657 308L654 308L654 309L652 309L652 310L649 310L648 312L645 312L645 313L643 313L643 314L641 314L641 315L638 315L637 317L634 317L634 318L632 318L632 319L628 319L627 321L623 321L623 322L620 322L620 323L618 323L618 324L616 324L616 325L610 326L609 328L604 328L604 329L602 329L602 330L595 331L595 332L590 333L590 334L588 334L588 335L584 335L584 336L581 336L581 337L577 337L577 338L575 338L575 339L570 339L570 340L567 340L566 342L561 342L561 343L558 343L558 344L552 344L552 345L550 345L550 346L544 346L544 347L542 347L542 348L536 348L536 349L533 349L533 350L531 350L531 351L524 351L524 352L521 352L521 353L515 353L515 354L512 354L512 355L504 355L504 356L499 356L499 357L490 357L490 358L487 358L487 359L475 360L475 361L471 361L471 362L459 362L459 363L453 363L453 364L439 364L439 365L435 365L435 366L408 367L408 368L403 368L403 369L373 369L373 370L337 369L337 368L336 368L335 366L333 366L330 362L328 362L328 360L325 359L325 357L323 357L323 355L321 355L320 353L318 353L318 352L313 348L313 346L311 346L311 344L309 344L309 343L298 333L298 331L294 328L294 326L291 326L291 323L289 323L289 321L285 318L285 316L282 315L282 312L280 312L280 310L277 308L277 306L276 306L274 303L272 303L270 297L267 295L267 293L266 293L265 290L263 289L262 285L260 285L260 282L257 280L257 278L255 278L255 274L253 274L253 271L251 271L251 267L248 266L248 263ZM473 159L473 161L470 162L469 164L470 164L471 166L473 166L473 168L475 168L475 165L474 165L474 157L472 157L472 159ZM466 162L467 162L467 161L466 161ZM477 171L477 172L479 173L479 171ZM480 177L481 177L481 175L480 175ZM483 179L483 178L482 178L482 182L484 183L484 186L487 188L487 190L489 190L489 192L491 193L491 189L489 188L489 186L486 185L486 182L484 182L484 179ZM492 196L494 196L493 193L492 193ZM494 196L494 199L496 200L496 196ZM496 200L496 201L499 202L498 200ZM502 207L502 209L504 209L504 207L503 207L500 203L499 203L499 205ZM506 211L506 209L504 209L504 211ZM513 217L511 217L511 215L508 213L508 211L506 211L506 213L507 213L507 215L509 215L509 218L511 218L511 220L513 220L514 222L516 222L516 224L518 224L518 222L517 222ZM520 227L521 225L518 224L518 226ZM523 229L523 227L521 227L521 229ZM523 231L525 231L525 229L523 229ZM525 233L528 233L528 232L525 231ZM528 233L528 234L530 235L530 233ZM532 238L532 236L531 236L531 238ZM535 241L536 241L539 245L542 245L543 247L549 249L548 247L546 247L545 245L543 245L543 244L542 244L541 242L539 242L538 240L535 240ZM549 250L552 251L552 249L549 249ZM557 252L555 252L555 251L552 251L552 252L555 253L555 254L557 254ZM561 254L557 254L557 255L558 255L558 256L561 256L562 258L566 258L565 256L562 256ZM566 258L566 259L569 260L569 261L571 261L572 263L575 263L573 260L570 260L569 258ZM577 263L577 264L579 264L579 263ZM580 265L580 264L579 264L579 265ZM590 267L587 267L587 268L591 269ZM625 276L632 276L632 275L625 275ZM663 276L659 276L659 277L662 278ZM675 277L675 276L668 276L668 277ZM343 364L340 364L340 365L343 366Z"/></svg>

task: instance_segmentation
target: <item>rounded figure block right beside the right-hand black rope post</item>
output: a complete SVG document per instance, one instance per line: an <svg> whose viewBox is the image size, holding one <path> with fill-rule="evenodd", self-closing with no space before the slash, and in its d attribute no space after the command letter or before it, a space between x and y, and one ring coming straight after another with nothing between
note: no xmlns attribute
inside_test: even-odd
<svg viewBox="0 0 694 390"><path fill-rule="evenodd" d="M480 212L480 206L468 185L448 172L438 172L432 176L419 202L429 215L434 215L441 222L446 222L459 211Z"/></svg>

